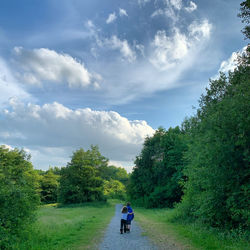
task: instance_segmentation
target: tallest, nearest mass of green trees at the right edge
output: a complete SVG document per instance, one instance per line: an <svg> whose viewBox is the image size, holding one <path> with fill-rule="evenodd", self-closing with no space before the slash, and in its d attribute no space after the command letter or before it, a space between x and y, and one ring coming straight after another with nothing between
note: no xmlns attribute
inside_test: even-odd
<svg viewBox="0 0 250 250"><path fill-rule="evenodd" d="M180 210L212 226L249 225L250 70L240 66L210 82L189 135L188 177Z"/></svg>

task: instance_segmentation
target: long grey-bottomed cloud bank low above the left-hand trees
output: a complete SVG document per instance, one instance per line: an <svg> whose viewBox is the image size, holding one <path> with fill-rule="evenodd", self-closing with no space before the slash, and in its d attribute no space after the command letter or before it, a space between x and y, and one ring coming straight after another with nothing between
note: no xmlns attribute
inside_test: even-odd
<svg viewBox="0 0 250 250"><path fill-rule="evenodd" d="M25 105L17 100L12 100L10 106L1 112L0 142L31 150L97 144L111 160L132 161L145 137L154 133L146 121L130 121L114 111L72 110L57 102Z"/></svg>

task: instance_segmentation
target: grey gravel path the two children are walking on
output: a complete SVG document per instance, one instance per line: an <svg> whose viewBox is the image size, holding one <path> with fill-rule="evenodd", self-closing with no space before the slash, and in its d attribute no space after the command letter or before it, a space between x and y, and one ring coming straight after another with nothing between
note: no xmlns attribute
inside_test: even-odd
<svg viewBox="0 0 250 250"><path fill-rule="evenodd" d="M134 220L132 221L131 232L120 234L121 208L122 205L116 205L115 216L107 228L99 250L157 250L158 248L146 236L142 236L142 230Z"/></svg>

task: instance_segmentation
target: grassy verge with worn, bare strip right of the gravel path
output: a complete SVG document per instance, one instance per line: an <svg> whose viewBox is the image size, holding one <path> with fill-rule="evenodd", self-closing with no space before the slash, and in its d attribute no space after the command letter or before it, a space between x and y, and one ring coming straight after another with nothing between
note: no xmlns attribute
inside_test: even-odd
<svg viewBox="0 0 250 250"><path fill-rule="evenodd" d="M178 249L247 250L249 242L200 224L171 222L174 210L135 208L136 220L160 249L166 245Z"/></svg>

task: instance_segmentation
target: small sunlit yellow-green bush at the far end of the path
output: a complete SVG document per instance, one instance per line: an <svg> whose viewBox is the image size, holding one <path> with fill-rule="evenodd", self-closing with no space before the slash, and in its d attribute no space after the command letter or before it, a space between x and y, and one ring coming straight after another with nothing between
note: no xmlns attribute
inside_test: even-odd
<svg viewBox="0 0 250 250"><path fill-rule="evenodd" d="M104 181L104 195L111 199L125 200L125 186L118 180Z"/></svg>

